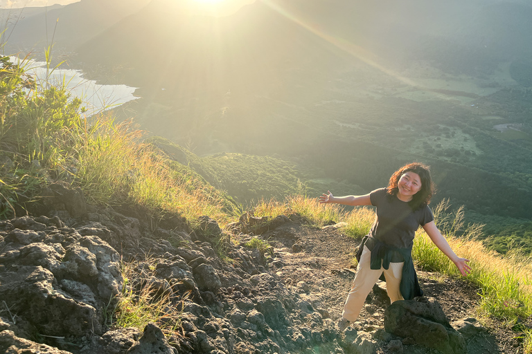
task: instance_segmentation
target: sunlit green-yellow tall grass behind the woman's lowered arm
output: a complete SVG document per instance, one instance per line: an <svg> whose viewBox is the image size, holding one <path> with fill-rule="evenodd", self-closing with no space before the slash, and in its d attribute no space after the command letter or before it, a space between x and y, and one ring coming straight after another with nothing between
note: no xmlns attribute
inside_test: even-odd
<svg viewBox="0 0 532 354"><path fill-rule="evenodd" d="M479 286L479 311L504 322L517 331L524 330L526 353L532 353L532 332L520 325L532 316L531 257L518 251L505 257L488 250L478 236L481 226L463 225L463 210L447 213L444 201L434 209L436 225L442 225L447 242L460 257L470 259L472 272L467 279ZM414 261L426 270L459 277L454 264L436 248L425 232L418 232L412 250Z"/></svg>

